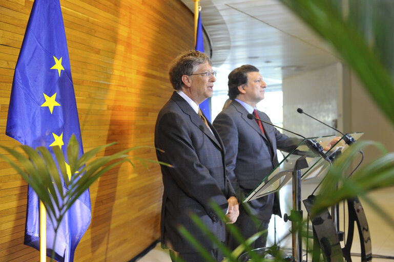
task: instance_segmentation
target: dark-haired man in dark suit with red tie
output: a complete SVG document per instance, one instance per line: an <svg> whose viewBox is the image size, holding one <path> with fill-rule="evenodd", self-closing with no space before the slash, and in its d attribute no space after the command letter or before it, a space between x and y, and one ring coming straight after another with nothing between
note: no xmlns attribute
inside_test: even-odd
<svg viewBox="0 0 394 262"><path fill-rule="evenodd" d="M229 97L233 101L213 122L226 149L227 176L240 201L279 164L277 148L290 151L300 142L279 133L272 125L262 123L260 127L256 120L247 118L247 114L254 114L271 122L266 114L256 110L266 87L253 65L234 69L229 75ZM242 204L239 212L235 225L244 238L266 230L273 213L281 215L276 194ZM256 240L255 248L265 247L266 236L265 233ZM240 244L231 234L227 241L233 249Z"/></svg>

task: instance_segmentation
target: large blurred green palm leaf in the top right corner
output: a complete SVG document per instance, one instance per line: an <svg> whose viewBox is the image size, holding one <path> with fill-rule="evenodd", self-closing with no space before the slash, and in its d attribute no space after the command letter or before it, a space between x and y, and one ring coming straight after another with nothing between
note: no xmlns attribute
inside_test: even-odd
<svg viewBox="0 0 394 262"><path fill-rule="evenodd" d="M382 112L394 124L394 83L390 75L389 65L394 62L392 46L380 50L373 49L369 42L376 42L378 47L387 46L382 41L392 39L391 36L391 16L387 17L370 17L375 20L379 19L379 25L374 25L374 34L366 40L366 33L356 25L363 24L366 17L355 17L354 13L357 8L374 8L381 10L383 4L387 8L394 8L393 3L384 3L383 1L357 1L357 4L351 4L349 1L350 15L342 15L343 1L313 1L313 0L279 0L295 14L297 14L306 24L312 28L318 35L326 40L345 60L345 62L357 73L360 80L364 83L369 95L376 101ZM370 6L369 6L370 5ZM385 19L385 20L384 20ZM380 25L387 25L383 27ZM383 31L386 30L386 31ZM382 37L385 36L385 37ZM375 38L372 38L375 37ZM382 55L382 52L385 52ZM385 61L386 66L383 64Z"/></svg>

